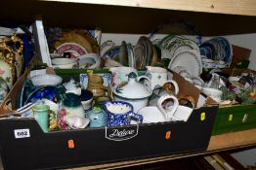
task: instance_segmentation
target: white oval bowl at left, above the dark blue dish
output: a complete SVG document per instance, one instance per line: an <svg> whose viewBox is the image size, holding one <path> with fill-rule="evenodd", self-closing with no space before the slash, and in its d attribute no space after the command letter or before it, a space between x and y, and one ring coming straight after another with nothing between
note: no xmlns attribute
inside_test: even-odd
<svg viewBox="0 0 256 170"><path fill-rule="evenodd" d="M63 82L63 78L58 75L53 74L45 74L45 75L38 75L31 78L32 84L35 86L41 85L60 85Z"/></svg>

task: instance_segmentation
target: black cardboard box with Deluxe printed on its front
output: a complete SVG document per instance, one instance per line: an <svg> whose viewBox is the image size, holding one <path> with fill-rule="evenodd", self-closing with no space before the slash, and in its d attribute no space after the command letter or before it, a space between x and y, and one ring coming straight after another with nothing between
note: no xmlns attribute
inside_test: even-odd
<svg viewBox="0 0 256 170"><path fill-rule="evenodd" d="M174 74L173 79L180 86L181 93L187 91L187 94L198 97L200 91L184 78ZM0 153L6 169L27 170L204 151L208 147L217 111L217 105L208 105L194 109L187 122L49 133L44 133L35 119L0 119Z"/></svg>

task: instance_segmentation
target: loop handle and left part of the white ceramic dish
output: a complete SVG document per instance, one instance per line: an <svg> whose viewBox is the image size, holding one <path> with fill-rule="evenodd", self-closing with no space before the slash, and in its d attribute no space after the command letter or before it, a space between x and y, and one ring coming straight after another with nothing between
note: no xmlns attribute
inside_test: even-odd
<svg viewBox="0 0 256 170"><path fill-rule="evenodd" d="M163 105L168 101L172 100L173 105L169 108L163 107ZM161 96L156 106L148 106L142 108L138 114L143 116L143 123L151 123L151 122L163 122L172 120L172 116L177 110L179 105L178 99L173 95L163 95Z"/></svg>

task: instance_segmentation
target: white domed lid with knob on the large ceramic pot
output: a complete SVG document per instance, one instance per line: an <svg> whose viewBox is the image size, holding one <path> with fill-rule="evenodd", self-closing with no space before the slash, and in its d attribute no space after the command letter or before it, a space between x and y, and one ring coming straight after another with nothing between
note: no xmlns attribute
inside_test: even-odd
<svg viewBox="0 0 256 170"><path fill-rule="evenodd" d="M137 81L137 75L132 72L128 76L128 82L117 85L113 89L113 93L122 98L141 99L151 95L152 90Z"/></svg>

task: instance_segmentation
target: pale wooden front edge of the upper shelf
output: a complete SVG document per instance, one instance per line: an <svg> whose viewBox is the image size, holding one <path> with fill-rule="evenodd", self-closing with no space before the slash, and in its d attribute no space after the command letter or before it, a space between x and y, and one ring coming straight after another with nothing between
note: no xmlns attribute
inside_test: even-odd
<svg viewBox="0 0 256 170"><path fill-rule="evenodd" d="M230 14L241 16L256 16L256 1L254 0L42 0L54 2L71 2L84 4L98 4L110 6L124 6L135 8L151 8L162 10L179 10L204 12L215 14Z"/></svg>

